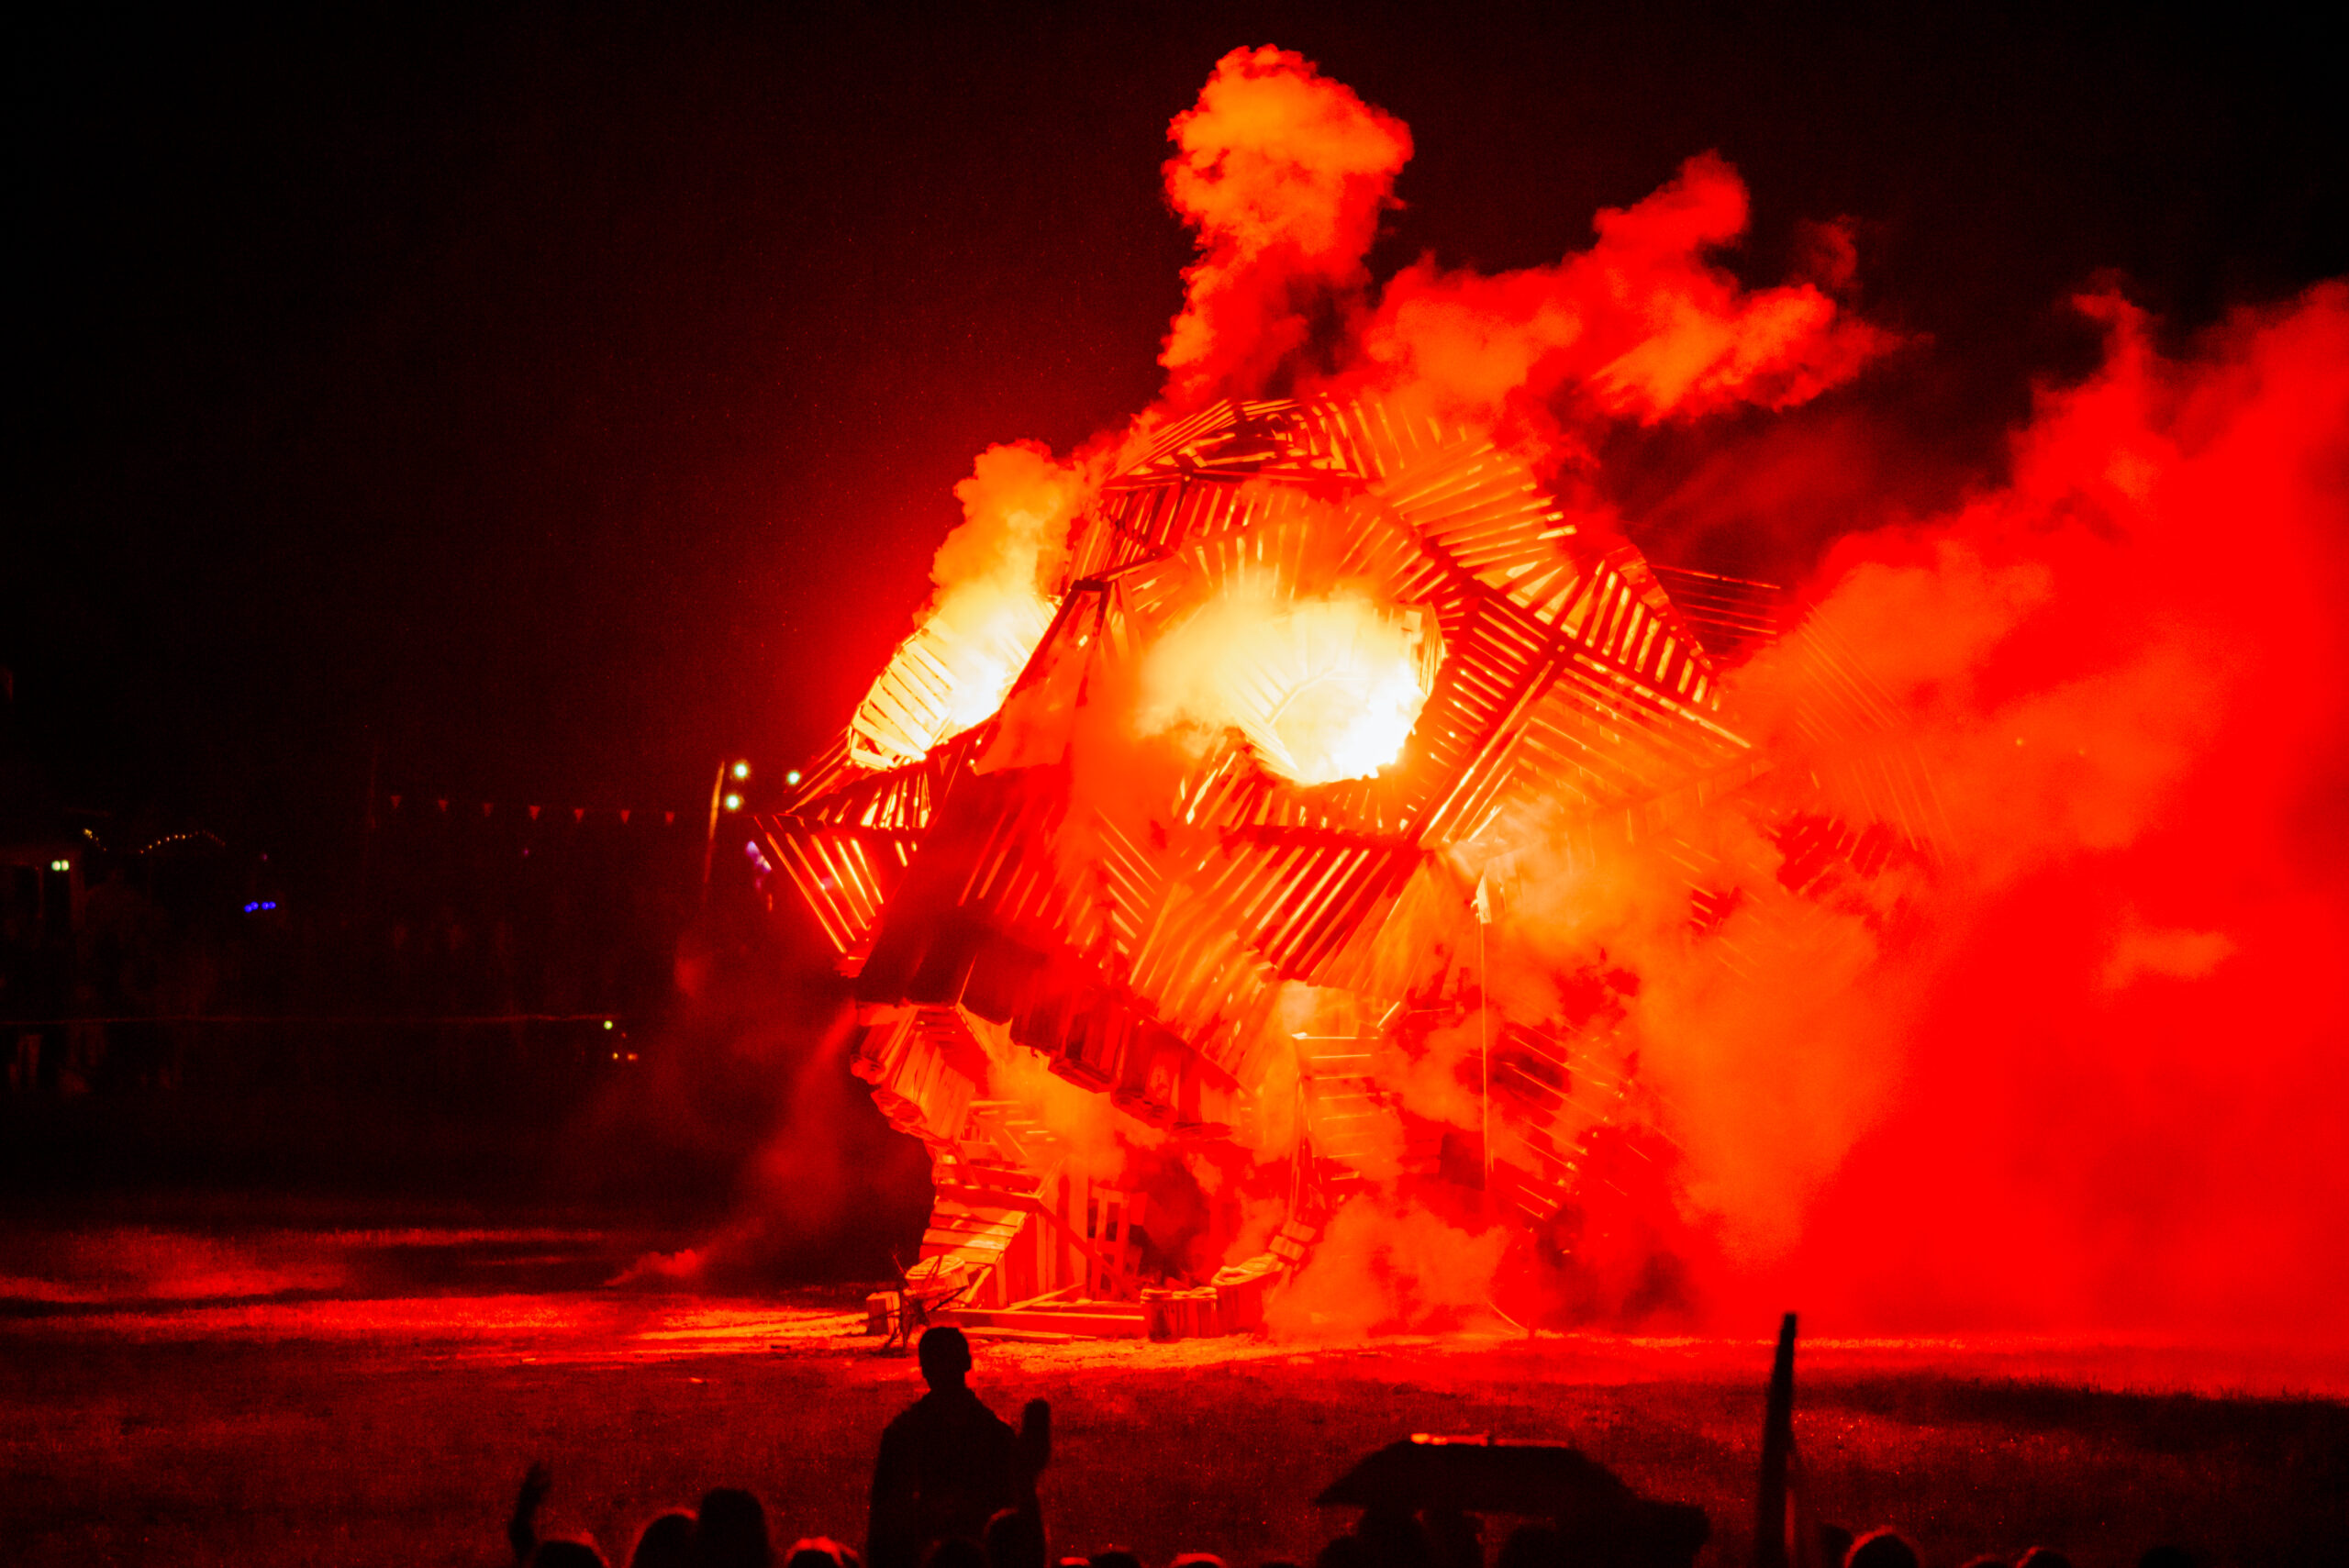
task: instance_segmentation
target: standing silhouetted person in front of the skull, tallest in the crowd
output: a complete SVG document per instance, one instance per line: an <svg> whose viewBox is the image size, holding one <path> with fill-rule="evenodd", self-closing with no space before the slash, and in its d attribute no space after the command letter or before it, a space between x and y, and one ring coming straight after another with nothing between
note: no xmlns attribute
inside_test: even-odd
<svg viewBox="0 0 2349 1568"><path fill-rule="evenodd" d="M864 1535L871 1568L921 1568L944 1540L977 1545L1003 1509L1043 1528L1036 1472L1052 1451L1050 1406L1031 1399L1019 1432L1003 1425L965 1383L970 1340L961 1329L926 1331L916 1354L930 1392L881 1434Z"/></svg>

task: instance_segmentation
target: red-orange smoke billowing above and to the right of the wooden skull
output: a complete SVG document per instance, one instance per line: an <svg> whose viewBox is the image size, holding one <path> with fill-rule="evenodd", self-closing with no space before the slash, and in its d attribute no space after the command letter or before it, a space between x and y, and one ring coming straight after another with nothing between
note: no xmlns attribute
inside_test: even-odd
<svg viewBox="0 0 2349 1568"><path fill-rule="evenodd" d="M1701 448L1719 425L1727 446L1724 411L1858 404L1893 345L1837 303L1837 228L1816 282L1743 289L1717 265L1748 207L1710 153L1597 214L1593 249L1555 268L1421 261L1374 291L1362 256L1412 150L1398 120L1297 54L1236 49L1172 138L1167 197L1200 256L1144 425L1271 385L1374 392L1557 474L1586 533L1637 530L1600 500L1609 432L1670 420ZM1776 772L1689 829L1708 920L1654 847L1569 854L1527 829L1496 1002L1539 1023L1602 995L1675 1150L1661 1214L1611 1232L1630 1261L1600 1307L1661 1298L1633 1253L1672 1246L1705 1253L1684 1261L1717 1298L1755 1289L1830 1324L2337 1336L2349 289L2241 315L2185 359L2123 296L2081 307L2105 364L2041 392L2011 477L1945 516L1863 521L1790 634L1731 671L1724 718ZM1771 505L1806 484L1856 505L1804 472L1837 451L1781 448ZM1085 484L996 448L965 493L975 528L1015 477L1050 491L1029 523L1062 526ZM1052 545L1015 535L1027 589ZM940 606L956 592L942 552ZM1820 721L1835 704L1872 718ZM1158 765L1135 737L1111 749L1113 768L1099 746L1078 761L1081 786ZM1870 784L1886 768L1893 786ZM1882 852L1853 859L1870 871L1799 876L1773 824L1804 789L1877 824ZM1423 1115L1468 1115L1421 1077L1402 1091ZM1475 1307L1501 1249L1470 1232L1358 1199L1273 1317Z"/></svg>

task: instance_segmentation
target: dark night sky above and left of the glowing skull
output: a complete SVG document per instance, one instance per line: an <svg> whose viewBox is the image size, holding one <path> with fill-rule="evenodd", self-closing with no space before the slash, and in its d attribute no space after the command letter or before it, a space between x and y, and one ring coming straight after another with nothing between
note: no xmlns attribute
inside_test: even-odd
<svg viewBox="0 0 2349 1568"><path fill-rule="evenodd" d="M348 833L373 744L493 800L780 772L904 631L970 458L1153 397L1165 122L1236 45L1409 122L1381 275L1555 261L1705 148L1755 277L1853 216L1863 310L1933 338L1886 394L1959 446L2077 354L2100 268L2185 326L2349 270L2328 52L2241 7L1468 9L19 35L12 744L261 845Z"/></svg>

